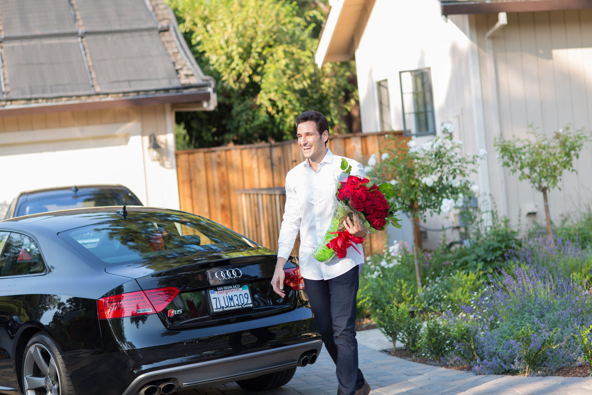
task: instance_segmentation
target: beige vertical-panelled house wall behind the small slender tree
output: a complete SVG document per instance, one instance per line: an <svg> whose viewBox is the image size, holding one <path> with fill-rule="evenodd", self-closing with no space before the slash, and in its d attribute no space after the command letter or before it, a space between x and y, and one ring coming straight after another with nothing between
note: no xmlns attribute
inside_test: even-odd
<svg viewBox="0 0 592 395"><path fill-rule="evenodd" d="M494 152L496 122L506 139L527 138L530 124L545 136L566 126L571 130L592 130L592 10L507 14L507 25L491 38L491 72L485 66L484 37L496 21L497 15L474 18L481 49L485 108L495 107L492 101L497 101L498 107L498 114L484 111L488 151ZM555 222L590 204L591 186L582 180L592 169L591 150L590 144L586 144L576 162L579 175L565 174L561 191L549 194L549 209ZM514 225L527 226L530 220L544 223L542 194L527 182L518 181L517 176L509 175L493 155L488 159L492 194L503 208L502 213Z"/></svg>

